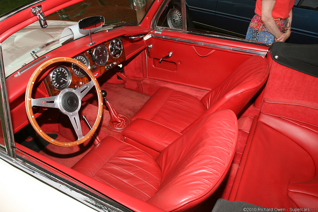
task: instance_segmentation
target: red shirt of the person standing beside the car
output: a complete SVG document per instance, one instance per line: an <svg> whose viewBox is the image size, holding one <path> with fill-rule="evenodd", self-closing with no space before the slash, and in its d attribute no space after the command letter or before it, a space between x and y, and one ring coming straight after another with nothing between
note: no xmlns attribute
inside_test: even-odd
<svg viewBox="0 0 318 212"><path fill-rule="evenodd" d="M273 18L288 18L290 10L293 9L295 0L276 0L274 5L272 16ZM255 13L262 16L262 0L256 0Z"/></svg>

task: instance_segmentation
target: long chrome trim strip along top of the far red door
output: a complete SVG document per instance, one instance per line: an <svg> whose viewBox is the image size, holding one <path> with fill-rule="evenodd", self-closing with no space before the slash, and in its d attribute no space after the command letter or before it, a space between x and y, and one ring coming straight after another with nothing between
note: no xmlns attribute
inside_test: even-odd
<svg viewBox="0 0 318 212"><path fill-rule="evenodd" d="M200 45L200 46L213 47L213 48L224 49L224 50L238 51L238 52L242 52L242 53L256 54L256 55L261 55L261 56L265 56L266 55L266 52L261 52L261 51L246 50L246 49L230 47L230 46L222 46L222 45L217 45L217 44L202 43L202 42L197 42L197 41L192 41L192 40L185 40L185 39L181 39L181 38L173 38L173 37L168 37L168 36L163 36L163 35L152 34L152 37L153 38L166 39L166 40L172 40L172 41L179 41L179 42L188 43L188 44L196 44L196 45Z"/></svg>

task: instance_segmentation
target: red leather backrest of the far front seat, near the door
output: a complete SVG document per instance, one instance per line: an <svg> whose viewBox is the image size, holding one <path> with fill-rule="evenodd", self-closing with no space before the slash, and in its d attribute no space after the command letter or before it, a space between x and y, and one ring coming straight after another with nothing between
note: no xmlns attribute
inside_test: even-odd
<svg viewBox="0 0 318 212"><path fill-rule="evenodd" d="M217 110L230 109L238 114L265 84L269 75L266 58L254 55L241 63L222 83L208 92L201 102L207 110L181 133Z"/></svg>

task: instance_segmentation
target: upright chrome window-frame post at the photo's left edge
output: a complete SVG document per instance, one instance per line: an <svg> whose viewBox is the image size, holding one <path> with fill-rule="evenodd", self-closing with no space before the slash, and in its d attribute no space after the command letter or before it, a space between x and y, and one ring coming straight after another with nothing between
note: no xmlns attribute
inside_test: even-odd
<svg viewBox="0 0 318 212"><path fill-rule="evenodd" d="M11 125L12 122L11 122L11 116L10 116L7 86L5 82L1 43L0 43L0 89L1 89L0 99L2 100L2 105L0 108L0 118L1 118L1 125L2 125L1 130L3 131L3 138L4 138L7 154L9 154L11 157L15 157L16 156L15 151L12 148L15 146L15 144L13 141L13 130Z"/></svg>

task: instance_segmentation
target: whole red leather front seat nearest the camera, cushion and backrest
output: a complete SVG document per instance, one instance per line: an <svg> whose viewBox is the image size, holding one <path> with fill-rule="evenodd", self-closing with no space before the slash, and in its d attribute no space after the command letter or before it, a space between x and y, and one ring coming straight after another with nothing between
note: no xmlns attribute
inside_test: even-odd
<svg viewBox="0 0 318 212"><path fill-rule="evenodd" d="M73 169L166 211L195 209L224 179L234 156L237 118L210 114L156 159L108 136Z"/></svg>

